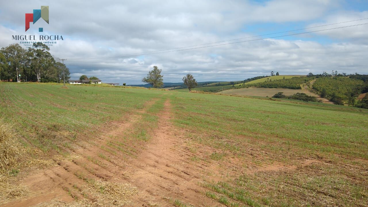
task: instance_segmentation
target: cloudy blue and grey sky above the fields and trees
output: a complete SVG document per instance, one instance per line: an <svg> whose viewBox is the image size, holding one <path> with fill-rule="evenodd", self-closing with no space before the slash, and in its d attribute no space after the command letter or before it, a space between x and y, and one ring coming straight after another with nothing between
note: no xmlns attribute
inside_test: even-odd
<svg viewBox="0 0 368 207"><path fill-rule="evenodd" d="M0 47L20 43L12 35L62 35L50 53L67 59L71 79L85 74L105 83L142 84L153 66L162 69L164 82L181 82L188 73L197 81L238 81L271 71L368 74L368 25L273 38L368 19L238 40L269 38L256 41L165 50L368 18L367 0L85 2L1 0ZM40 19L25 32L25 13L41 6L49 6L49 24ZM217 44L232 42L237 41ZM126 56L157 50L166 53ZM89 59L112 56L120 57Z"/></svg>

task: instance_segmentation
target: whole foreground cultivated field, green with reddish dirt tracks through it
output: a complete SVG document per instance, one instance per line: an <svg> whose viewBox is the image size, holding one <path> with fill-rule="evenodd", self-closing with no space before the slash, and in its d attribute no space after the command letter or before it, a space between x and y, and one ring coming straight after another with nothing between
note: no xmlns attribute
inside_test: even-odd
<svg viewBox="0 0 368 207"><path fill-rule="evenodd" d="M368 206L365 109L22 83L0 106L0 206Z"/></svg>

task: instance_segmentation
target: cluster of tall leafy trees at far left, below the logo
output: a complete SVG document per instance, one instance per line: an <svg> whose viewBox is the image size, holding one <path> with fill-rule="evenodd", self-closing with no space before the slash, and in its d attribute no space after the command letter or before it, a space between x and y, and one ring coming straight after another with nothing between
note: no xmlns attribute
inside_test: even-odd
<svg viewBox="0 0 368 207"><path fill-rule="evenodd" d="M56 82L69 80L70 71L59 58L49 52L50 48L41 43L24 49L11 44L0 50L0 80L22 82Z"/></svg>

